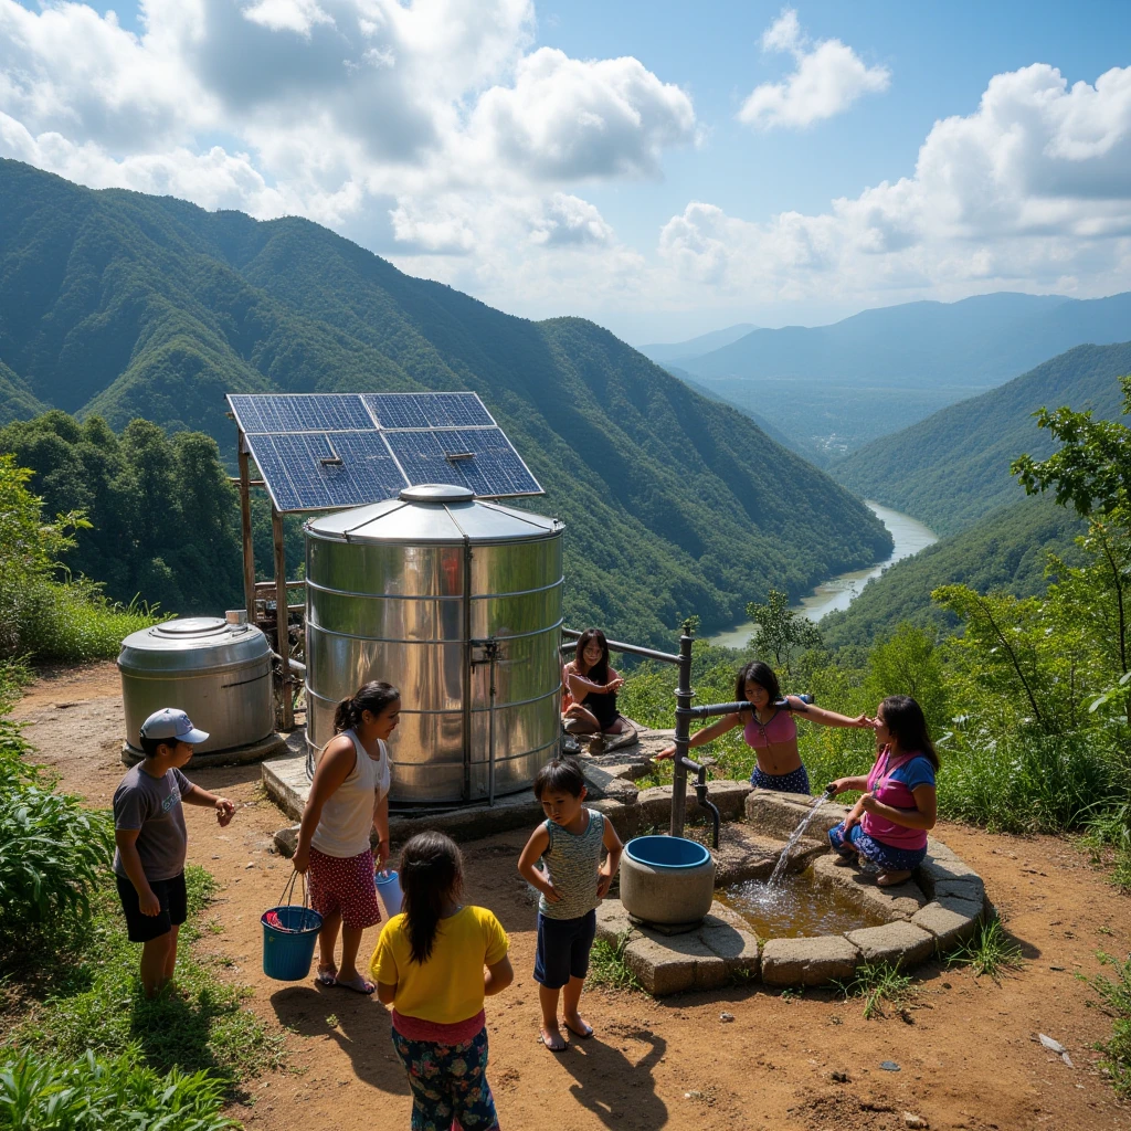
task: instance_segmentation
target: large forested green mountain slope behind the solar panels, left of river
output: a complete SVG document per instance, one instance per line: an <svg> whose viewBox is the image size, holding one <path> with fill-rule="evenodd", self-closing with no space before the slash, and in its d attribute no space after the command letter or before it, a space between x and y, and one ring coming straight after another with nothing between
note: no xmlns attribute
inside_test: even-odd
<svg viewBox="0 0 1131 1131"><path fill-rule="evenodd" d="M683 615L723 627L890 546L847 491L592 322L512 318L308 221L11 161L0 215L0 360L42 405L199 429L231 457L225 392L478 392L546 487L533 506L567 523L571 623L670 642Z"/></svg>

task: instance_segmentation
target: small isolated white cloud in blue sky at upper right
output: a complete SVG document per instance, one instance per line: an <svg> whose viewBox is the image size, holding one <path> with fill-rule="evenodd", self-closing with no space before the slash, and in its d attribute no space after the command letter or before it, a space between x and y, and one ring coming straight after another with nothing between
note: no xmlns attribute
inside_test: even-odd
<svg viewBox="0 0 1131 1131"><path fill-rule="evenodd" d="M839 40L810 43L797 14L786 8L762 33L762 50L787 52L796 69L784 83L762 83L742 104L739 120L758 129L805 128L846 111L861 95L887 90L887 67L867 67Z"/></svg>

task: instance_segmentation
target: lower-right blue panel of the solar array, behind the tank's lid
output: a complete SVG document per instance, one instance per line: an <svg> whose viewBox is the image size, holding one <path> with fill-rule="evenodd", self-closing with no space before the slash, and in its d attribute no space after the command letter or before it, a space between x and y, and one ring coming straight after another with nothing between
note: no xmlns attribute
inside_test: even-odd
<svg viewBox="0 0 1131 1131"><path fill-rule="evenodd" d="M409 483L455 483L484 498L541 494L500 428L386 432Z"/></svg>

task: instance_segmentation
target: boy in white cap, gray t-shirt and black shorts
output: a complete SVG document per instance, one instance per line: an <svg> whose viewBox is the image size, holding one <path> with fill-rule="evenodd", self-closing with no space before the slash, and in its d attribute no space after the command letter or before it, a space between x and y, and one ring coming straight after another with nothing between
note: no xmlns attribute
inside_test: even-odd
<svg viewBox="0 0 1131 1131"><path fill-rule="evenodd" d="M235 805L193 785L182 772L192 748L208 735L183 710L165 707L141 724L145 759L114 791L114 874L130 942L140 942L141 984L155 998L172 981L176 935L188 916L184 858L188 832L181 805L216 810L221 828Z"/></svg>

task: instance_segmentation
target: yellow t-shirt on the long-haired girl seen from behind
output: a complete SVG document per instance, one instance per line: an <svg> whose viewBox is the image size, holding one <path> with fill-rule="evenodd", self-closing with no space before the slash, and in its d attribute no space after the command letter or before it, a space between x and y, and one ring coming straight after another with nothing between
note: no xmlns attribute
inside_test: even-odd
<svg viewBox="0 0 1131 1131"><path fill-rule="evenodd" d="M440 920L432 953L424 965L414 962L408 921L394 915L369 960L370 975L396 985L392 1008L405 1017L455 1025L483 1009L483 967L507 957L510 940L502 924L485 907L464 907Z"/></svg>

